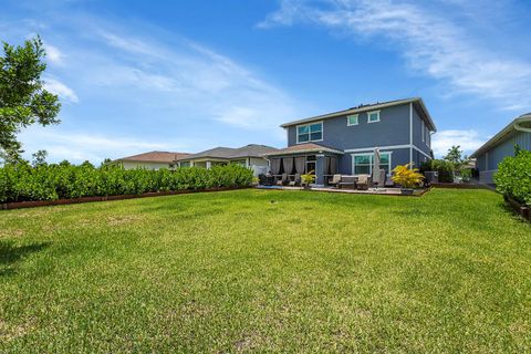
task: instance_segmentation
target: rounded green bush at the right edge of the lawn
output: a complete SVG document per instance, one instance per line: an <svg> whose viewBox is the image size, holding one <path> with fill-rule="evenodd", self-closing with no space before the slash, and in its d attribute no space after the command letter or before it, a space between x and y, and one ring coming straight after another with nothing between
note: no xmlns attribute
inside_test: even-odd
<svg viewBox="0 0 531 354"><path fill-rule="evenodd" d="M531 206L531 152L520 150L516 157L506 157L494 175L498 191Z"/></svg>

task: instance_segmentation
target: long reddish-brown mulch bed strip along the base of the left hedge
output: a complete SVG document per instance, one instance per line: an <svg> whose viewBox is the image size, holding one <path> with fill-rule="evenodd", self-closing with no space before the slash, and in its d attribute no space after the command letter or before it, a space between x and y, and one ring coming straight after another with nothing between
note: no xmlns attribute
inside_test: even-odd
<svg viewBox="0 0 531 354"><path fill-rule="evenodd" d="M13 201L13 202L0 204L0 210L62 206L62 205L69 205L69 204L82 204L82 202L93 202L93 201L110 201L110 200L125 200L125 199L135 199L135 198L175 196L175 195L186 195L186 194L192 194L192 192L223 191L223 190L236 190L236 189L246 189L246 188L250 188L250 187L218 187L218 188L207 188L207 189L198 189L198 190L187 189L187 190L150 191L150 192L144 192L142 195L83 197L83 198L58 199L58 200Z"/></svg>

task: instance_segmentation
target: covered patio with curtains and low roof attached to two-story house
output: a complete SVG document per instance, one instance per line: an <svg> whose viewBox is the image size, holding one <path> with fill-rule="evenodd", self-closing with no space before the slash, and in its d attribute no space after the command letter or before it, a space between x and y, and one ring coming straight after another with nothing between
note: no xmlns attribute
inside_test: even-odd
<svg viewBox="0 0 531 354"><path fill-rule="evenodd" d="M317 144L300 144L270 154L271 176L277 183L285 176L294 181L296 176L315 175L315 186L324 186L327 179L340 170L340 158L344 153Z"/></svg>

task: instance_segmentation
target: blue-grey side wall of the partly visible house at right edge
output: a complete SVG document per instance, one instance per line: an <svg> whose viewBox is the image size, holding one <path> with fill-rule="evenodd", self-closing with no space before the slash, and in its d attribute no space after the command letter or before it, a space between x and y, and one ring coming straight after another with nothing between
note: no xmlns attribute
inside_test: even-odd
<svg viewBox="0 0 531 354"><path fill-rule="evenodd" d="M493 175L498 170L498 165L504 157L514 156L514 145L517 144L522 149L531 150L531 133L516 131L506 140L479 155L476 163L479 181L493 184Z"/></svg>

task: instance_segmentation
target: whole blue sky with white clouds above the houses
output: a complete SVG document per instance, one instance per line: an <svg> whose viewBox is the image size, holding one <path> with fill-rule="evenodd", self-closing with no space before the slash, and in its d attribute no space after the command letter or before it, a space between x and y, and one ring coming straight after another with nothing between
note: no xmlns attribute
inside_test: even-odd
<svg viewBox="0 0 531 354"><path fill-rule="evenodd" d="M531 3L493 2L4 0L0 40L39 33L63 103L27 156L282 147L283 122L409 96L440 156L531 111Z"/></svg>

